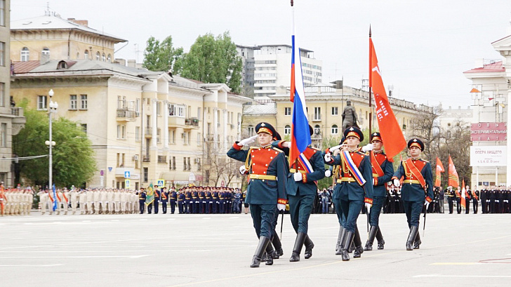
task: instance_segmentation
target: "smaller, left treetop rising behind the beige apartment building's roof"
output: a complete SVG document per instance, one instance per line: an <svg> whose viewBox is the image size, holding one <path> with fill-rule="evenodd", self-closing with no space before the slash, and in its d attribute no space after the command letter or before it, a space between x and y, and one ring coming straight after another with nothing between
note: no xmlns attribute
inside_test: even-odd
<svg viewBox="0 0 511 287"><path fill-rule="evenodd" d="M168 36L164 41L154 39L150 36L147 39L147 46L144 51L143 67L151 71L173 71L173 65L176 60L183 55L183 48L174 48L172 36Z"/></svg>

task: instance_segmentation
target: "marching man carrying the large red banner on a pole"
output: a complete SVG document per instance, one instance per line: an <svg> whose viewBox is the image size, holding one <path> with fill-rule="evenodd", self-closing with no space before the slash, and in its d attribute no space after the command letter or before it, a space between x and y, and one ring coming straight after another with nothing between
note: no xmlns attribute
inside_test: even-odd
<svg viewBox="0 0 511 287"><path fill-rule="evenodd" d="M373 206L369 213L369 222L371 229L369 229L369 239L367 239L365 251L373 250L374 237L378 240L378 249L383 249L385 241L378 225L381 208L385 199L387 198L387 182L390 182L392 175L394 175L394 167L387 159L387 155L383 153L383 141L380 133L371 134L371 143L373 144L373 151L369 152L371 158L371 166L373 166Z"/></svg>

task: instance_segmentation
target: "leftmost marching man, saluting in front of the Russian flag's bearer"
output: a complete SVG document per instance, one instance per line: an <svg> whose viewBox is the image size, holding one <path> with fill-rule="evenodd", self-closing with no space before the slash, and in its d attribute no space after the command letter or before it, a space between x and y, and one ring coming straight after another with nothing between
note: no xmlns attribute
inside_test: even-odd
<svg viewBox="0 0 511 287"><path fill-rule="evenodd" d="M246 202L250 203L250 211L255 233L259 243L255 249L250 267L259 267L261 257L270 243L272 221L276 209L286 208L286 178L288 164L284 152L272 147L275 129L267 123L255 126L258 135L235 142L227 152L227 156L244 161L242 173L248 173ZM260 147L242 150L241 147L258 139ZM277 180L277 178L279 180Z"/></svg>

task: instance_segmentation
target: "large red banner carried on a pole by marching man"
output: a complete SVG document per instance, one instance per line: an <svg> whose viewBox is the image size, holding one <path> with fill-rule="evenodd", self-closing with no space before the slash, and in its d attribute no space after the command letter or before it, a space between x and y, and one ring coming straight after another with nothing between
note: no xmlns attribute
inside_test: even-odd
<svg viewBox="0 0 511 287"><path fill-rule="evenodd" d="M369 37L369 86L373 88L376 118L385 153L389 161L392 161L392 158L406 147L406 140L390 107L371 37Z"/></svg>

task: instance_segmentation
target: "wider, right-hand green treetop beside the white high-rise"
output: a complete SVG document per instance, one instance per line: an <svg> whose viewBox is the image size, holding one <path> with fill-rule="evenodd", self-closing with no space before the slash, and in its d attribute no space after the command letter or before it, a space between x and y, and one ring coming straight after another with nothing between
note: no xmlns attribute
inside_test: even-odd
<svg viewBox="0 0 511 287"><path fill-rule="evenodd" d="M175 70L181 76L204 83L227 84L233 93L241 92L242 67L229 32L216 38L211 33L199 36L190 52L175 62Z"/></svg>

